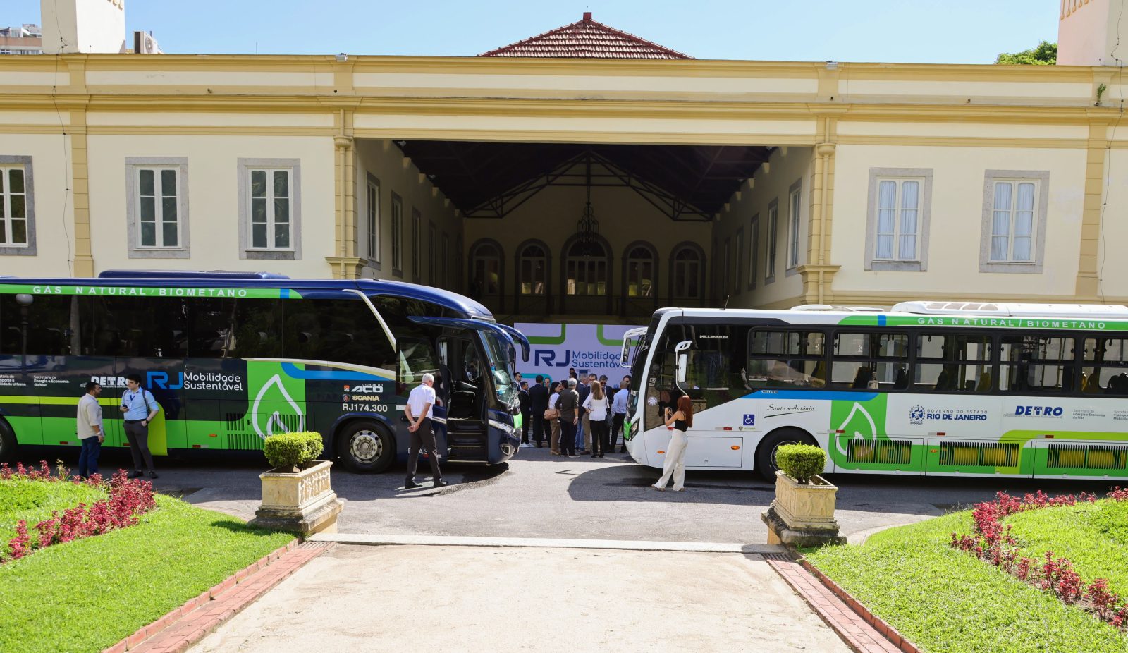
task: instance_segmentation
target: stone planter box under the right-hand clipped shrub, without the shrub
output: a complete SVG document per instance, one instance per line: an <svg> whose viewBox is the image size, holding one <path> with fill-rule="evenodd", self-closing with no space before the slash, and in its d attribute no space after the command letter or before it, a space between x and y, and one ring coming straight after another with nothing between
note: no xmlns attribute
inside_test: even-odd
<svg viewBox="0 0 1128 653"><path fill-rule="evenodd" d="M801 485L783 471L776 471L776 497L760 519L768 526L768 544L816 546L846 544L835 520L835 494L838 487L821 476Z"/></svg>

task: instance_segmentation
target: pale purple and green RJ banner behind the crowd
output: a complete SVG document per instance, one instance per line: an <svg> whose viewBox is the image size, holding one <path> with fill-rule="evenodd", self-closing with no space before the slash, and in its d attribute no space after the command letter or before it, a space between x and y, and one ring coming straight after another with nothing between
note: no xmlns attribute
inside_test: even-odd
<svg viewBox="0 0 1128 653"><path fill-rule="evenodd" d="M527 381L537 374L546 379L566 379L569 369L578 374L607 374L616 382L627 373L619 367L623 334L637 328L631 325L540 324L514 325L532 345L528 361L518 361L517 371Z"/></svg>

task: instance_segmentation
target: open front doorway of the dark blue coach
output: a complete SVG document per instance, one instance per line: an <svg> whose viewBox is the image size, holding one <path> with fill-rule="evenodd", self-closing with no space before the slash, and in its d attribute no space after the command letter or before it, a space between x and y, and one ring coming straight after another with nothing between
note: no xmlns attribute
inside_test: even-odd
<svg viewBox="0 0 1128 653"><path fill-rule="evenodd" d="M485 367L475 341L461 336L440 337L439 370L440 398L447 413L448 455L483 460L488 443Z"/></svg>

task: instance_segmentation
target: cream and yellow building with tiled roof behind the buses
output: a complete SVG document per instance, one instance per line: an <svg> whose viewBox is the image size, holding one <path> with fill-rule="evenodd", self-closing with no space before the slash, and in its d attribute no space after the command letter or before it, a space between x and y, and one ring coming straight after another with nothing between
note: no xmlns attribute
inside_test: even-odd
<svg viewBox="0 0 1128 653"><path fill-rule="evenodd" d="M7 274L398 279L597 324L1128 302L1099 3L1064 0L1057 67L702 61L590 14L485 56L140 56L118 3L69 5L100 50L0 62Z"/></svg>

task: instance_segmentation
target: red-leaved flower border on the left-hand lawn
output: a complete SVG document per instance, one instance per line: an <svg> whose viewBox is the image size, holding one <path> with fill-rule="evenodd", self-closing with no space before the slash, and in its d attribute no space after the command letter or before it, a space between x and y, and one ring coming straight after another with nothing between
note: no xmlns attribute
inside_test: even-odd
<svg viewBox="0 0 1128 653"><path fill-rule="evenodd" d="M19 520L16 524L16 537L0 548L0 563L21 558L32 551L51 545L102 535L120 528L138 523L139 515L156 508L152 483L126 478L125 471L118 470L108 482L95 474L88 479L70 478L70 473L60 465L52 470L46 461L39 467L25 467L21 462L12 469L7 464L0 465L0 480L20 478L42 483L73 483L90 485L106 489L108 498L98 500L87 505L79 503L74 508L59 513L53 511L50 519L34 526L35 533L28 531L27 521Z"/></svg>

